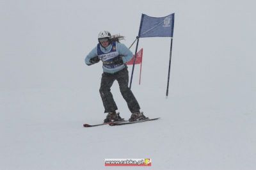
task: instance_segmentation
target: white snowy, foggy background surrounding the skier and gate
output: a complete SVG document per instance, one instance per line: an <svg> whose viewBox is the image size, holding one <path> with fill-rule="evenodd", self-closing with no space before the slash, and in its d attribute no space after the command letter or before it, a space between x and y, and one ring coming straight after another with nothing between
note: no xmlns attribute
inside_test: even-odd
<svg viewBox="0 0 256 170"><path fill-rule="evenodd" d="M3 0L0 13L0 169L256 169L255 1ZM102 30L131 45L141 13L175 13L168 99L170 38L140 39L132 83L141 111L161 119L83 128L106 116L101 65L84 57ZM112 92L129 118L116 82Z"/></svg>

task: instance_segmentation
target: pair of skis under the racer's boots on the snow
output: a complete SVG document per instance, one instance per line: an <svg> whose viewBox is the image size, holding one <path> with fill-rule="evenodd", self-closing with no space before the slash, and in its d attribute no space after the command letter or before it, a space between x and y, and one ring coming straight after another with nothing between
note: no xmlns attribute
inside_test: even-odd
<svg viewBox="0 0 256 170"><path fill-rule="evenodd" d="M120 126L120 125L129 125L129 124L134 124L134 123L141 123L145 121L152 121L152 120L158 120L159 118L146 118L145 120L138 120L138 121L128 121L128 120L120 120L120 121L111 121L109 123L100 123L100 124L95 124L95 125L90 125L90 124L84 124L83 127L98 127L101 125L110 125L110 126Z"/></svg>

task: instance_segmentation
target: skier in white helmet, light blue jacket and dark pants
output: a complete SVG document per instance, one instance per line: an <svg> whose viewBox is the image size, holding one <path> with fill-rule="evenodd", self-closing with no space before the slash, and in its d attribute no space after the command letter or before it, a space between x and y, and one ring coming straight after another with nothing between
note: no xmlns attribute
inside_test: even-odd
<svg viewBox="0 0 256 170"><path fill-rule="evenodd" d="M116 80L122 96L127 102L131 111L129 121L145 119L143 112L140 112L140 105L134 97L131 89L128 88L129 75L126 62L130 61L133 54L118 38L111 38L109 31L100 31L97 46L86 56L85 63L90 66L102 61L103 73L100 82L100 97L104 105L104 112L108 112L104 123L122 120L110 91L113 82Z"/></svg>

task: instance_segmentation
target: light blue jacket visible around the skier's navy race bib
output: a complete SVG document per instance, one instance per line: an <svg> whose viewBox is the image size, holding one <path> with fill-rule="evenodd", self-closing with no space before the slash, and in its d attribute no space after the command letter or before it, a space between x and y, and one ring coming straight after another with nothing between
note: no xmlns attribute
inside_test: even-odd
<svg viewBox="0 0 256 170"><path fill-rule="evenodd" d="M110 44L110 45L108 45L108 47L106 47L106 49L104 49L104 47L102 47L101 45L100 45L100 49L102 50L102 52L109 52L109 50L111 50L111 48L112 48L112 44ZM132 59L132 56L133 56L133 54L132 54L132 52L131 52L131 50L129 50L124 44L122 44L122 43L118 43L118 42L116 42L116 52L118 52L118 54L120 55L120 56L122 56L122 59L123 59L123 61L124 61L124 63L127 63L128 61L130 61L131 59ZM94 58L95 56L97 56L97 46L86 56L86 58L85 58L85 63L86 63L86 65L92 65L92 63L90 63L90 59L91 58ZM107 70L106 68L104 68L103 66L102 66L102 68L103 68L103 72L107 72L107 73L115 73L115 72L118 72L118 71L120 71L120 70L122 70L122 69L124 69L125 68L125 65L123 65L123 66L121 66L121 67L118 67L118 68L114 68L114 69L112 69L112 70Z"/></svg>

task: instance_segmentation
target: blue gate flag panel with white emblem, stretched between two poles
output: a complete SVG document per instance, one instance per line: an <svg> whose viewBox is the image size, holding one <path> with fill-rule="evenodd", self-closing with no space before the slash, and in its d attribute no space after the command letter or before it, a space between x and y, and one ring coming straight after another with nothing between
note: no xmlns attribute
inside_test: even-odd
<svg viewBox="0 0 256 170"><path fill-rule="evenodd" d="M142 13L139 37L173 37L174 13L166 17L149 17Z"/></svg>

